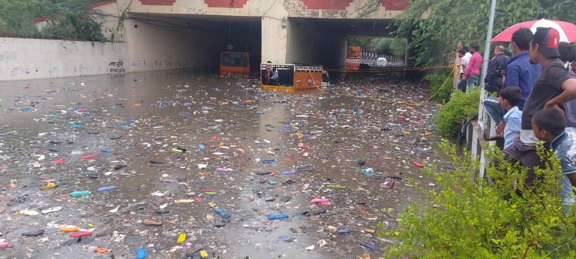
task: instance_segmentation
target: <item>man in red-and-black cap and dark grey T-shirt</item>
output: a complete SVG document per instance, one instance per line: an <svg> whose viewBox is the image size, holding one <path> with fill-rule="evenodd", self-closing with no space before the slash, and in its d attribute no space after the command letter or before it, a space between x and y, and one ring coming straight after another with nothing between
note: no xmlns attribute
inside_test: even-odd
<svg viewBox="0 0 576 259"><path fill-rule="evenodd" d="M536 29L530 41L530 63L539 63L542 65L542 71L522 110L520 141L514 142L504 150L506 157L520 161L522 165L530 168L528 184L536 179L533 167L544 166L536 153L538 139L532 131L532 115L542 109L560 109L558 105L576 99L576 79L570 77L562 61L558 59L559 43L558 30L543 27Z"/></svg>

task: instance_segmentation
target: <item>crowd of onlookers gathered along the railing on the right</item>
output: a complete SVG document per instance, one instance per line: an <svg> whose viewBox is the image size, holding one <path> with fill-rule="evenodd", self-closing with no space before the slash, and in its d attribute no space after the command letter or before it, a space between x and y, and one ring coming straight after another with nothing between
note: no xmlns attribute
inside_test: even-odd
<svg viewBox="0 0 576 259"><path fill-rule="evenodd" d="M511 57L503 45L494 48L484 88L493 93L483 100L496 136L503 138L505 158L532 168L526 184L536 179L534 167L545 167L536 152L536 142L544 141L559 157L563 177L560 199L569 207L576 202L576 47L559 42L553 28L527 28L513 33ZM458 42L454 65L454 90L478 86L482 56L478 45L465 47Z"/></svg>

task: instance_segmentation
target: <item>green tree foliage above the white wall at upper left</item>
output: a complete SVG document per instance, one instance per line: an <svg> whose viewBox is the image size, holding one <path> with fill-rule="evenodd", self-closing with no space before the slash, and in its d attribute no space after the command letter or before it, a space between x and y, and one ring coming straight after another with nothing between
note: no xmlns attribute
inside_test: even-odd
<svg viewBox="0 0 576 259"><path fill-rule="evenodd" d="M0 37L104 41L85 8L100 0L0 0ZM33 20L48 16L40 32Z"/></svg>

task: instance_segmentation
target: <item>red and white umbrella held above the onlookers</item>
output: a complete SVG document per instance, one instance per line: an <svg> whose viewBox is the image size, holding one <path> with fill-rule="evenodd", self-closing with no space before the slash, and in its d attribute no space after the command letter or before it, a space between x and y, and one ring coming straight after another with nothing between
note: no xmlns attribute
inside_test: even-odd
<svg viewBox="0 0 576 259"><path fill-rule="evenodd" d="M528 28L532 33L536 33L538 27L548 27L558 30L560 33L560 42L576 42L576 25L570 22L554 21L554 20L534 20L529 22L520 22L505 29L503 32L492 38L490 42L502 41L510 42L512 40L512 33L520 28Z"/></svg>

